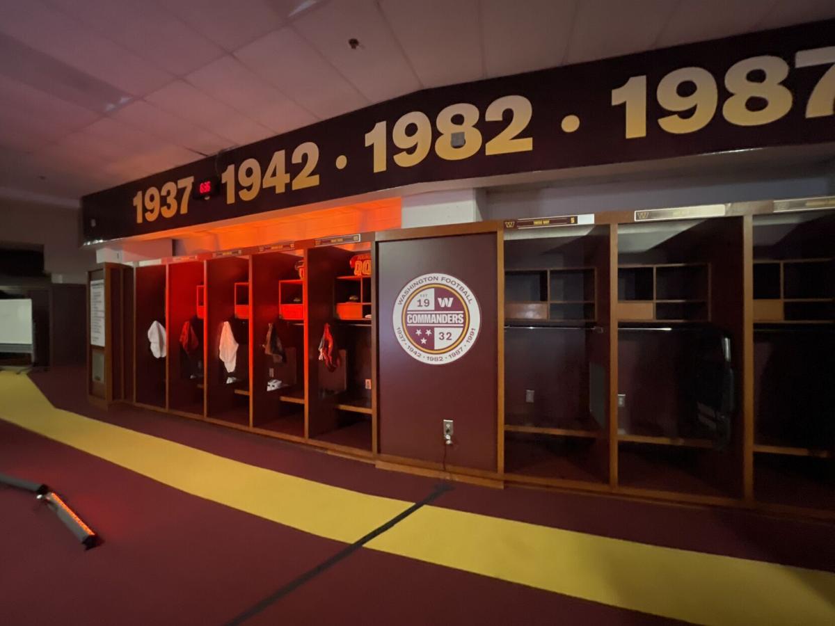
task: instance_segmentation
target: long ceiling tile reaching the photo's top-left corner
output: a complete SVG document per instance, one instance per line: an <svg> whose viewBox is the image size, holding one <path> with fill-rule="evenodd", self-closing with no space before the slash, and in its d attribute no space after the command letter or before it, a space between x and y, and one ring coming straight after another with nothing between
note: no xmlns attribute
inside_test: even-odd
<svg viewBox="0 0 835 626"><path fill-rule="evenodd" d="M0 32L134 95L171 79L163 69L38 0L4 3Z"/></svg>

